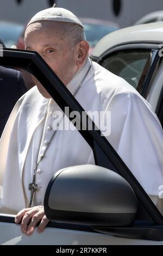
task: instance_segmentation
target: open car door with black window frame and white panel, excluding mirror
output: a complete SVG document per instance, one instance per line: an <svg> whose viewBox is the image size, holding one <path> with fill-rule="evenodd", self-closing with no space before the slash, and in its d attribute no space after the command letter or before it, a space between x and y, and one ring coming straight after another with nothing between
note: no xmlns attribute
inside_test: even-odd
<svg viewBox="0 0 163 256"><path fill-rule="evenodd" d="M0 65L17 66L30 72L42 83L62 111L68 106L71 111L78 111L82 115L84 109L38 53L5 49L3 57L0 58ZM87 128L86 131L79 132L92 148L96 165L119 173L133 188L140 209L133 225L98 228L52 222L43 233L38 234L35 230L32 236L27 236L21 233L20 225L14 223L14 215L4 212L0 214L0 243L2 245L163 245L163 217L126 164L95 126L92 131Z"/></svg>

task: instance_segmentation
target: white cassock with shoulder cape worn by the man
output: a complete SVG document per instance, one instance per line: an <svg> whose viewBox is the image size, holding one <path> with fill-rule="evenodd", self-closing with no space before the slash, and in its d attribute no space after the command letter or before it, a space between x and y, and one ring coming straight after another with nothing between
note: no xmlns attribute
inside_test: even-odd
<svg viewBox="0 0 163 256"><path fill-rule="evenodd" d="M89 65L87 59L67 85L72 94ZM111 111L111 134L106 138L149 196L158 196L159 186L163 185L163 133L147 101L122 78L94 62L76 99L85 111ZM18 100L5 126L0 142L2 208L19 211L29 205L28 186L33 179L47 102L37 87L33 87ZM40 154L54 132L52 115L59 110L52 101ZM95 161L82 135L77 130L57 131L36 173L40 189L35 193L35 205L43 204L48 182L57 170L87 163Z"/></svg>

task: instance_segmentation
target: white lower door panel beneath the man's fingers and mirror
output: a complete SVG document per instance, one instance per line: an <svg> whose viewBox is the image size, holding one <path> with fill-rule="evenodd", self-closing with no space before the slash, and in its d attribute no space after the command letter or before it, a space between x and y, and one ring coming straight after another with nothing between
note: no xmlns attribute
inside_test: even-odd
<svg viewBox="0 0 163 256"><path fill-rule="evenodd" d="M19 224L7 222L0 222L0 230L0 245L149 245L148 240L50 227L40 234L35 229L33 235L27 236ZM150 241L150 245L163 245L163 241Z"/></svg>

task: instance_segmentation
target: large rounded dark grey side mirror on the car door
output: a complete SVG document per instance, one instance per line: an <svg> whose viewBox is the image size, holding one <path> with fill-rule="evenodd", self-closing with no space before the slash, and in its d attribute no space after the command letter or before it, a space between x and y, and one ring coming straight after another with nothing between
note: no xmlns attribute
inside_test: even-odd
<svg viewBox="0 0 163 256"><path fill-rule="evenodd" d="M91 164L59 170L48 184L45 214L51 221L86 225L129 225L137 198L112 170Z"/></svg>

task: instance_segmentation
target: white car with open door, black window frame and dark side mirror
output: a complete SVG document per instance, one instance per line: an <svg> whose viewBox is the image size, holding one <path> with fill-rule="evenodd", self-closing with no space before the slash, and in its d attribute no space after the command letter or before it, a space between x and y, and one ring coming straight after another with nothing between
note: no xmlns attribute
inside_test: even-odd
<svg viewBox="0 0 163 256"><path fill-rule="evenodd" d="M162 124L161 43L163 22L125 28L99 41L93 58L130 82L151 103ZM63 111L69 106L82 114L78 102L38 53L7 49L0 65L26 69ZM99 131L79 132L93 149L96 166L69 167L54 175L44 200L52 222L43 233L22 234L14 216L0 214L0 244L163 245L163 216L126 164Z"/></svg>

